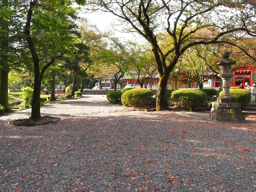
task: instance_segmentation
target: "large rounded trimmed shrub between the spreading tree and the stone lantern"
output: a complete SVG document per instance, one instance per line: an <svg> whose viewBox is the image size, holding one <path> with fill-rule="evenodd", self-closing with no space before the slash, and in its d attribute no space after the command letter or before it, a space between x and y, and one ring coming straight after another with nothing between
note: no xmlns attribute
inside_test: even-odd
<svg viewBox="0 0 256 192"><path fill-rule="evenodd" d="M207 104L207 94L197 89L179 89L172 92L172 102L189 110L204 107Z"/></svg>

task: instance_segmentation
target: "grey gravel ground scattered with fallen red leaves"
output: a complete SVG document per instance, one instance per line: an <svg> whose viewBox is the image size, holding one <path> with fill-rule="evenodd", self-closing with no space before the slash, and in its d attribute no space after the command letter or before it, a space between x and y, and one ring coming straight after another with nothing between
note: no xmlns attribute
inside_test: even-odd
<svg viewBox="0 0 256 192"><path fill-rule="evenodd" d="M0 116L1 192L256 192L256 117L145 112L84 96L41 108L55 124L12 126Z"/></svg>

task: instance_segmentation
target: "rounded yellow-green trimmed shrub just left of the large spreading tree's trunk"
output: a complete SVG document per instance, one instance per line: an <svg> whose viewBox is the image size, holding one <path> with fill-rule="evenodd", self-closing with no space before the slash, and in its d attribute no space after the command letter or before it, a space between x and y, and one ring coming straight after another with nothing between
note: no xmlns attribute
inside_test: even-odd
<svg viewBox="0 0 256 192"><path fill-rule="evenodd" d="M125 106L140 107L151 103L153 100L153 91L145 88L136 88L125 91L121 96L122 104Z"/></svg>

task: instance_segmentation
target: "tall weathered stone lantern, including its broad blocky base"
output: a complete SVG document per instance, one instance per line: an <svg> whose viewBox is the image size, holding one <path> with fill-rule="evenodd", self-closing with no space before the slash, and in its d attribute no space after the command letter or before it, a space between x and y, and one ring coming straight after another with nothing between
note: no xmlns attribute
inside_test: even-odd
<svg viewBox="0 0 256 192"><path fill-rule="evenodd" d="M219 77L222 79L222 95L217 98L217 102L212 103L212 109L209 114L209 119L219 121L244 121L244 114L241 110L241 104L236 103L235 99L230 96L230 78L231 65L236 64L229 58L230 52L225 51L223 58L218 62L220 66Z"/></svg>

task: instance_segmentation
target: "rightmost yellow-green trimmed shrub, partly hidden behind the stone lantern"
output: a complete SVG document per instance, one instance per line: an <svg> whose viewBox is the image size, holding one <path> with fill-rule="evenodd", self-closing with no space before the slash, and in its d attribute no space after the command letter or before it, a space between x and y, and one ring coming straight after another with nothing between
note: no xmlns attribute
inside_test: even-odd
<svg viewBox="0 0 256 192"><path fill-rule="evenodd" d="M222 96L222 91L219 95ZM247 89L230 89L230 96L234 97L236 103L241 103L241 107L245 107L251 102L251 93Z"/></svg>

